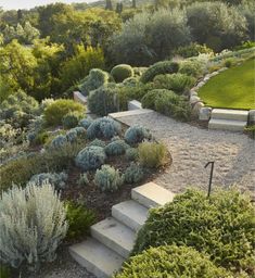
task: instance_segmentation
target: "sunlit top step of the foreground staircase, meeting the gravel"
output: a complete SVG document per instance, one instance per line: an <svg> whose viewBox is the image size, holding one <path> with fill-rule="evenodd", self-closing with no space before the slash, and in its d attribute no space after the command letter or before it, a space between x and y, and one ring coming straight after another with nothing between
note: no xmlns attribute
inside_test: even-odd
<svg viewBox="0 0 255 278"><path fill-rule="evenodd" d="M171 202L175 193L157 186L154 182L149 182L141 187L133 188L131 197L132 200L150 208Z"/></svg>

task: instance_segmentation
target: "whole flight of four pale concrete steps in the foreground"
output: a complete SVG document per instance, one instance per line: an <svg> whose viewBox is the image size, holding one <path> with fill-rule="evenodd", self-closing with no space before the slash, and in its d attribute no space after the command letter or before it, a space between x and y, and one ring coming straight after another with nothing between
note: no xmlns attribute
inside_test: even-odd
<svg viewBox="0 0 255 278"><path fill-rule="evenodd" d="M98 278L112 277L132 250L149 208L171 202L174 193L149 182L131 190L131 200L112 207L112 217L91 226L91 237L69 248L71 255Z"/></svg>

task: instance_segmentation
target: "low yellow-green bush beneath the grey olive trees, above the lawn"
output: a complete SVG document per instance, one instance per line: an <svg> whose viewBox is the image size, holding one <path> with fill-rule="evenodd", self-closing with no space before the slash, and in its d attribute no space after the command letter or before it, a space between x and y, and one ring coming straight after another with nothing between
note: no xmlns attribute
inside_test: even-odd
<svg viewBox="0 0 255 278"><path fill-rule="evenodd" d="M206 47L205 45L201 46L196 42L192 42L184 47L179 47L175 50L175 55L180 55L182 58L191 58L191 56L197 56L199 54L211 54L214 53L213 49Z"/></svg>

